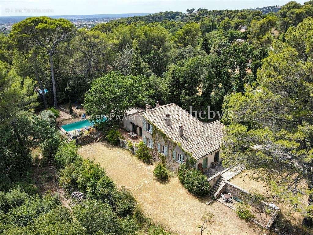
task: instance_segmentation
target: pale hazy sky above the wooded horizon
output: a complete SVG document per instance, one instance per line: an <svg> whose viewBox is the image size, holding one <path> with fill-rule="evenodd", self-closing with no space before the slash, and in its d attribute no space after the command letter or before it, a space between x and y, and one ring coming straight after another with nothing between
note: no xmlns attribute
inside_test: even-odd
<svg viewBox="0 0 313 235"><path fill-rule="evenodd" d="M308 1L308 0L305 0ZM297 1L298 3L304 3ZM88 15L114 13L185 12L190 8L249 9L284 5L284 0L0 0L0 16Z"/></svg>

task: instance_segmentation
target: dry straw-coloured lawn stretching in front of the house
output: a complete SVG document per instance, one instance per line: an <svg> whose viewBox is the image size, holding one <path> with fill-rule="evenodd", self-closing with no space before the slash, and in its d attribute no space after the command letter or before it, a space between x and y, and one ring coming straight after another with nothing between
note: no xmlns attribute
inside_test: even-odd
<svg viewBox="0 0 313 235"><path fill-rule="evenodd" d="M145 214L167 229L182 235L200 234L197 227L206 212L214 215L203 234L212 235L262 235L266 234L257 225L240 220L227 206L208 199L199 200L179 183L176 176L167 183L157 182L153 177L153 165L139 161L126 149L106 142L93 143L80 148L84 158L95 159L103 166L117 186L133 191Z"/></svg>

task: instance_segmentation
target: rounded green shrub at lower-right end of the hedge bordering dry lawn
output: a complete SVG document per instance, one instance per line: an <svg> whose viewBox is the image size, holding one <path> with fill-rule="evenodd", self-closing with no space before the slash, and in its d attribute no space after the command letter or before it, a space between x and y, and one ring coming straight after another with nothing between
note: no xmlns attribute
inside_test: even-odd
<svg viewBox="0 0 313 235"><path fill-rule="evenodd" d="M111 198L111 205L118 216L127 217L128 215L133 214L136 207L136 201L131 191L126 190L125 187L122 187L121 189L115 188L112 191Z"/></svg>

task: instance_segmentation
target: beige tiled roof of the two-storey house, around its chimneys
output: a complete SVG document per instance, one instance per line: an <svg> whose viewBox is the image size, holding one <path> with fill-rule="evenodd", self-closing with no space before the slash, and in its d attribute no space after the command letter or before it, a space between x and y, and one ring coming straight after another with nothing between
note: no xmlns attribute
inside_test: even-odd
<svg viewBox="0 0 313 235"><path fill-rule="evenodd" d="M166 114L171 115L170 126L165 124ZM191 153L195 159L221 147L224 125L220 121L204 124L175 103L153 108L142 115L174 142L180 143L182 149ZM181 125L184 128L183 136L178 135L178 127Z"/></svg>

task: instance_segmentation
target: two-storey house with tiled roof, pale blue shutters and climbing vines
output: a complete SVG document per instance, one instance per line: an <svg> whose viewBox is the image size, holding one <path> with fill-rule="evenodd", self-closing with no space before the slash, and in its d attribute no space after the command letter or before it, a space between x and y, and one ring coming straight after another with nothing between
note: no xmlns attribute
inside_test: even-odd
<svg viewBox="0 0 313 235"><path fill-rule="evenodd" d="M142 113L142 140L155 161L163 161L177 172L191 157L195 167L206 169L220 162L223 124L202 123L175 103L151 108Z"/></svg>

